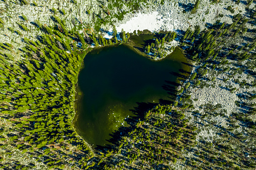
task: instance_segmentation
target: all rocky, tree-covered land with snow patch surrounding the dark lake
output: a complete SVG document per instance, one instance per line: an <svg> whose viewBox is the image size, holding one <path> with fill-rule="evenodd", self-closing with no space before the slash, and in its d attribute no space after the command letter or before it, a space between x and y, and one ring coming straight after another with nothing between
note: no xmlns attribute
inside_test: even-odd
<svg viewBox="0 0 256 170"><path fill-rule="evenodd" d="M1 1L0 168L255 168L255 2L197 2ZM94 149L71 124L82 59L134 30L175 32L163 48L182 48L192 71L172 105Z"/></svg>

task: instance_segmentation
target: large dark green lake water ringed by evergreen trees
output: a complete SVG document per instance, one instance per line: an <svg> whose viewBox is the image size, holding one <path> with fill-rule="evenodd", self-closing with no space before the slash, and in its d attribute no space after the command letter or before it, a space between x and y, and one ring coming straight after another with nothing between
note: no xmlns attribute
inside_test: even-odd
<svg viewBox="0 0 256 170"><path fill-rule="evenodd" d="M82 97L74 126L89 144L109 144L114 130L125 126L125 118L137 102L170 100L169 86L179 69L189 71L180 49L161 61L151 61L124 45L94 50L84 58L78 76ZM168 90L166 90L168 89ZM121 124L123 123L123 124Z"/></svg>

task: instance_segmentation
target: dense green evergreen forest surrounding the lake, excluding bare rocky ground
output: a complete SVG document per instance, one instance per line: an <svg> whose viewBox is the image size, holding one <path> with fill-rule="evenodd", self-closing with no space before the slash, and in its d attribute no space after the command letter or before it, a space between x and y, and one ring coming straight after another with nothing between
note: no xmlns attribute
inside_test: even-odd
<svg viewBox="0 0 256 170"><path fill-rule="evenodd" d="M128 3L134 12L139 10L138 3ZM191 13L197 12L199 3L196 1ZM17 4L29 3L22 0ZM31 6L37 4L32 2ZM232 16L231 24L216 21L206 29L191 26L178 34L174 31L156 33L157 39L145 44L142 52L152 58L163 58L169 50L166 44L179 41L191 73L179 75L179 82L172 87L177 88L177 100L173 104L149 107L141 103L135 108L137 116L127 119L130 126L119 128L113 134L111 145L97 148L91 148L72 127L78 72L83 58L93 50L92 45L101 48L125 44L136 33L118 34L113 26L113 38L106 39L102 34L79 30L81 25L67 29L66 21L56 15L65 15L65 11L53 8L52 25L32 23L42 32L32 39L23 36L30 28L26 26L27 16L22 16L24 23L15 23L19 29L9 27L8 30L21 38L24 47L17 51L12 43L0 43L0 168L255 168L256 30L247 29L245 24L255 25L256 11L254 8L246 11L247 17ZM94 17L95 22L101 24L108 19ZM122 15L116 17L122 19ZM101 24L96 24L95 29L99 30ZM5 25L5 19L0 19L0 28ZM240 45L236 45L237 42ZM243 74L247 76L245 79ZM218 80L218 75L225 77ZM230 85L231 81L238 87ZM233 103L239 112L227 114L223 103L193 104L198 99L191 98L192 90L217 86L238 96L239 100ZM193 124L188 115L200 122ZM220 117L226 124L218 124L214 117ZM217 131L212 142L198 137L203 129Z"/></svg>

